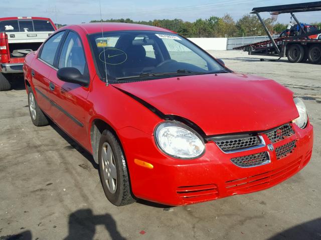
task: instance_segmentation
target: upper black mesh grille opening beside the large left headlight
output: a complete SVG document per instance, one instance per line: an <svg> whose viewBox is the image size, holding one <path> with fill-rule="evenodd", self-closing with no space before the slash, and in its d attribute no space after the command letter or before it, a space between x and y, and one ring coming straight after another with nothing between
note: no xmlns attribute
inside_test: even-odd
<svg viewBox="0 0 321 240"><path fill-rule="evenodd" d="M223 151L233 151L258 146L261 144L261 140L258 136L251 135L235 135L224 138L216 138L214 141Z"/></svg>

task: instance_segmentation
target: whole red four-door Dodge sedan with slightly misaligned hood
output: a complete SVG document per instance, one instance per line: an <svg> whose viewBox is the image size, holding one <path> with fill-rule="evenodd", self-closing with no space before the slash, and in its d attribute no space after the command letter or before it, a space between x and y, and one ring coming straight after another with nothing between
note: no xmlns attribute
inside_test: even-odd
<svg viewBox="0 0 321 240"><path fill-rule="evenodd" d="M310 160L302 100L235 73L167 29L60 28L26 57L36 126L53 120L99 164L107 198L184 205L271 187Z"/></svg>

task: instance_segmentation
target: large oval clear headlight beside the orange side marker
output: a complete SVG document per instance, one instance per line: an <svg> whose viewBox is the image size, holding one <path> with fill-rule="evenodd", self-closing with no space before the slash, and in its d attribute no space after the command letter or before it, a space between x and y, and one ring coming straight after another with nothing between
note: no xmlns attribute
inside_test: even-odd
<svg viewBox="0 0 321 240"><path fill-rule="evenodd" d="M193 159L204 153L202 137L189 126L165 121L155 128L155 141L164 153L180 159Z"/></svg>

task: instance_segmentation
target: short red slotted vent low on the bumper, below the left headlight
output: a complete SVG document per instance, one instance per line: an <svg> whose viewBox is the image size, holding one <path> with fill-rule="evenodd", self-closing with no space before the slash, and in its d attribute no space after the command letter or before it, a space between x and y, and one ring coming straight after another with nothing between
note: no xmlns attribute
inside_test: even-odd
<svg viewBox="0 0 321 240"><path fill-rule="evenodd" d="M177 194L185 200L198 201L203 198L215 199L218 197L218 188L215 184L179 186Z"/></svg>

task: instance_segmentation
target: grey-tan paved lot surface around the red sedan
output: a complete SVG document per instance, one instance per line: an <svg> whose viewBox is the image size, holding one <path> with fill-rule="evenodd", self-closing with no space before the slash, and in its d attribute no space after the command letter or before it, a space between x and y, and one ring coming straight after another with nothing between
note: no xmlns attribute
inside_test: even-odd
<svg viewBox="0 0 321 240"><path fill-rule="evenodd" d="M143 201L116 207L90 155L57 126L32 124L17 83L0 92L0 239L321 239L321 66L211 53L304 99L315 140L302 171L264 191L170 210Z"/></svg>

